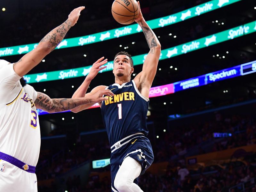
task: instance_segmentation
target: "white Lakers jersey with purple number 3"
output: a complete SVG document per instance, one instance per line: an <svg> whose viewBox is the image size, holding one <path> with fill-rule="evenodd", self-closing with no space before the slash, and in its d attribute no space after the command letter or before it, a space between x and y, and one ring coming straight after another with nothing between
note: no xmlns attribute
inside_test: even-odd
<svg viewBox="0 0 256 192"><path fill-rule="evenodd" d="M22 88L13 64L0 60L0 152L36 166L40 151L40 126L35 89Z"/></svg>

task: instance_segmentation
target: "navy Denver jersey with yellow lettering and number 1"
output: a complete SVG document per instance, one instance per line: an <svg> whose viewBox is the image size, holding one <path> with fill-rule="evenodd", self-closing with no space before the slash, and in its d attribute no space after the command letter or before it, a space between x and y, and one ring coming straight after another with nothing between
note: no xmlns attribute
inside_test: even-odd
<svg viewBox="0 0 256 192"><path fill-rule="evenodd" d="M122 85L112 84L108 89L115 96L102 102L101 113L110 145L138 132L147 136L149 100L140 94L135 82L132 80Z"/></svg>

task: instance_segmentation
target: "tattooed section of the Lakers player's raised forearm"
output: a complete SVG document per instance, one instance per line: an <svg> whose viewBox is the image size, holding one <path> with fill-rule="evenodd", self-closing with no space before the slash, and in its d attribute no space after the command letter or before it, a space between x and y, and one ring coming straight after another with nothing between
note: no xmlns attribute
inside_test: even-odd
<svg viewBox="0 0 256 192"><path fill-rule="evenodd" d="M63 40L70 27L71 22L69 20L66 20L59 27L53 29L50 33L48 33L40 42L48 42L47 46L54 50L57 45Z"/></svg>

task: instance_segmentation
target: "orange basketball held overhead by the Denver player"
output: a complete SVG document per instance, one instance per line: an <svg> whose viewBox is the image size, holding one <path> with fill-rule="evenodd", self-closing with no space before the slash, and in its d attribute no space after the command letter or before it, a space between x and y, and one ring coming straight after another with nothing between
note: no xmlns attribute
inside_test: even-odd
<svg viewBox="0 0 256 192"><path fill-rule="evenodd" d="M136 0L115 0L112 4L112 15L114 19L123 25L133 23L140 13Z"/></svg>

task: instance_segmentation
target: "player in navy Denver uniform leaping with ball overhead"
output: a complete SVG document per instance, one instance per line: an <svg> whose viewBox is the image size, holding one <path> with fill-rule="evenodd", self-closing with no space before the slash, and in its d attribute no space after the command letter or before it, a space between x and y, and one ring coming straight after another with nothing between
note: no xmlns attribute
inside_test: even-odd
<svg viewBox="0 0 256 192"><path fill-rule="evenodd" d="M83 97L84 94L88 96L103 89L109 89L115 94L106 96L108 100L99 103L112 146L110 165L112 191L114 192L142 192L138 186L138 177L154 160L151 144L146 138L148 135L146 117L149 90L156 75L161 45L144 20L141 11L136 22L142 28L150 48L142 71L134 80L131 80L134 71L131 55L127 52L119 52L114 59L115 83L110 86L100 85L85 94L88 82L100 70L99 62L103 60L101 58L92 65L90 73L72 97ZM92 104L82 105L72 111L79 112L91 106Z"/></svg>

